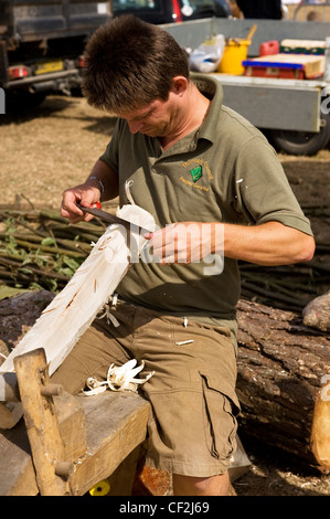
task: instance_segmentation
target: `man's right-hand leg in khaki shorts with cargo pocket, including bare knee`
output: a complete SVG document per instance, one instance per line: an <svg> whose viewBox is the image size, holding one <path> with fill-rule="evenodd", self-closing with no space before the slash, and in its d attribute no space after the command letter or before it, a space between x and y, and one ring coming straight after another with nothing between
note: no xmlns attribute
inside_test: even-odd
<svg viewBox="0 0 330 519"><path fill-rule="evenodd" d="M147 464L173 475L175 496L226 496L239 405L234 347L224 328L182 321L138 329L155 370L142 386L152 406Z"/></svg>

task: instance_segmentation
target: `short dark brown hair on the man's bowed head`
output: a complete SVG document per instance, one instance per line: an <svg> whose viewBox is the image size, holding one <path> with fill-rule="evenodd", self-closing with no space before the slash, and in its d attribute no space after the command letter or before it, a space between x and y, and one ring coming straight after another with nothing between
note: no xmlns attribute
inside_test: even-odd
<svg viewBox="0 0 330 519"><path fill-rule="evenodd" d="M88 41L83 93L89 105L118 114L167 100L178 75L189 78L189 64L175 40L159 25L123 15Z"/></svg>

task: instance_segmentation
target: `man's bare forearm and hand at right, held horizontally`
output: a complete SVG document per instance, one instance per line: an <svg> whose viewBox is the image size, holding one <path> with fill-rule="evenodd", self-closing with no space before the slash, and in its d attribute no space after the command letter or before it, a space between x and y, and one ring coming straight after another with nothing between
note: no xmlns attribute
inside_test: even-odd
<svg viewBox="0 0 330 519"><path fill-rule="evenodd" d="M179 222L146 235L162 264L202 261L220 254L259 265L289 265L312 258L312 236L279 222L260 225Z"/></svg>

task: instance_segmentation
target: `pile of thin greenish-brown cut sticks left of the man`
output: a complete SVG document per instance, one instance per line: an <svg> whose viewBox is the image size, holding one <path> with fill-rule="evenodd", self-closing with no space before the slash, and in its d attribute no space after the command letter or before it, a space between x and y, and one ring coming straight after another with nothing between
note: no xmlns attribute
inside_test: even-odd
<svg viewBox="0 0 330 519"><path fill-rule="evenodd" d="M2 211L0 225L0 287L9 292L60 292L104 232L97 221L71 225L47 211Z"/></svg>

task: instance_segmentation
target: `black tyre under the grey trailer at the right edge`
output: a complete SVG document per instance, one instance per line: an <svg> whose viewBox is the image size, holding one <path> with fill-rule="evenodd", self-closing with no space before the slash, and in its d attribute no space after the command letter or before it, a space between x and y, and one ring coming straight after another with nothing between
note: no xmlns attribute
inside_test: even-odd
<svg viewBox="0 0 330 519"><path fill-rule="evenodd" d="M330 140L330 117L321 118L320 131L270 130L274 146L289 155L316 155Z"/></svg>

